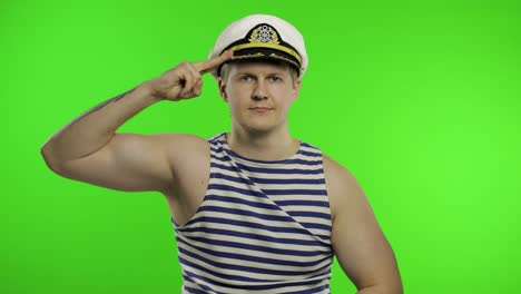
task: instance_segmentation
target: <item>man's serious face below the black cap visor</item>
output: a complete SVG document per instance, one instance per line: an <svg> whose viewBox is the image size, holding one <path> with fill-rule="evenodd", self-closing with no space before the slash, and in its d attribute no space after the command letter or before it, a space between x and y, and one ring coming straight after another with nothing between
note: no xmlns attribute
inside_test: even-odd
<svg viewBox="0 0 521 294"><path fill-rule="evenodd" d="M240 62L229 63L227 70L219 90L229 105L234 128L253 133L287 128L289 106L301 88L287 66Z"/></svg>

